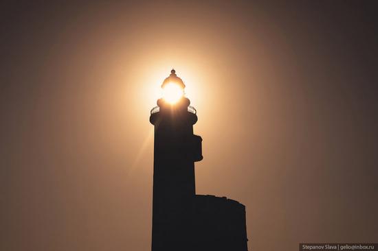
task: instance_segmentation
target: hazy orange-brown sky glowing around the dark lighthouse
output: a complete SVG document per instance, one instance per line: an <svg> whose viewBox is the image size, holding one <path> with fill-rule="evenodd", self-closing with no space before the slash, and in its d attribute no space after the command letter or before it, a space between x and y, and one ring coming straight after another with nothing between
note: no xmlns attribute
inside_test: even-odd
<svg viewBox="0 0 378 251"><path fill-rule="evenodd" d="M245 204L249 250L377 242L374 1L283 2L2 2L0 250L151 249L172 67L197 193Z"/></svg>

